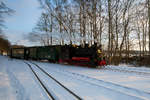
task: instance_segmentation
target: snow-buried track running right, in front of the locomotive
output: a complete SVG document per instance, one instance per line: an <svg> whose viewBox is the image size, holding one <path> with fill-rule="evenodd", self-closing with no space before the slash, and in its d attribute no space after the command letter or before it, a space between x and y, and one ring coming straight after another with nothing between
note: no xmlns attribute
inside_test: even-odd
<svg viewBox="0 0 150 100"><path fill-rule="evenodd" d="M42 70L44 70L44 69L42 69ZM67 77L72 77L72 78L74 78L78 81L82 81L84 83L88 83L90 85L97 86L100 89L104 88L108 91L119 92L121 94L135 96L137 98L142 98L144 100L149 100L148 98L150 98L150 93L140 91L140 90L137 90L137 89L121 86L121 85L110 83L110 82L105 82L105 81L102 81L102 80L98 80L98 79L95 79L95 78L88 77L86 75L73 73L73 72L69 72L69 71L66 71L66 70L54 70L53 69L52 71L55 72L55 73L59 73L60 75L65 75Z"/></svg>

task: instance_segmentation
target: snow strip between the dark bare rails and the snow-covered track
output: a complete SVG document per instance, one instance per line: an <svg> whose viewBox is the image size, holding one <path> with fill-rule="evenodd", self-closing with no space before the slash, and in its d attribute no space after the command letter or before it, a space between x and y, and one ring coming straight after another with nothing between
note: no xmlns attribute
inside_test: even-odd
<svg viewBox="0 0 150 100"><path fill-rule="evenodd" d="M114 89L96 85L91 82L87 82L85 80L70 76L68 75L68 73L64 74L64 72L56 71L55 68L53 69L50 67L44 67L42 65L42 68L45 68L45 70L49 72L53 77L55 77L69 89L73 90L73 92L75 92L84 100L99 100L99 98L101 98L102 100L143 100L136 96L131 96Z"/></svg>

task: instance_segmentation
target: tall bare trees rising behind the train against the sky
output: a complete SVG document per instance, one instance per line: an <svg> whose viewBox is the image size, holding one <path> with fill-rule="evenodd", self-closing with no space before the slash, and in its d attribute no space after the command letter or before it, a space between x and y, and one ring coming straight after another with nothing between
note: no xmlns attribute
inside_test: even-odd
<svg viewBox="0 0 150 100"><path fill-rule="evenodd" d="M102 45L110 63L130 51L150 54L149 0L38 0L43 12L30 33L42 45ZM117 60L118 61L118 60ZM115 62L115 61L114 61Z"/></svg>

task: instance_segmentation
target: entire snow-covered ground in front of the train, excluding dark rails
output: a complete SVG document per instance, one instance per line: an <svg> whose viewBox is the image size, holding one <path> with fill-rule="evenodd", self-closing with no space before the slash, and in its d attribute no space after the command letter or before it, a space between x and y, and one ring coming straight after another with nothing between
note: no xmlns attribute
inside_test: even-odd
<svg viewBox="0 0 150 100"><path fill-rule="evenodd" d="M34 71L57 100L76 98L41 72ZM106 66L103 69L35 62L84 100L150 100L150 68ZM0 100L49 100L23 60L0 56Z"/></svg>

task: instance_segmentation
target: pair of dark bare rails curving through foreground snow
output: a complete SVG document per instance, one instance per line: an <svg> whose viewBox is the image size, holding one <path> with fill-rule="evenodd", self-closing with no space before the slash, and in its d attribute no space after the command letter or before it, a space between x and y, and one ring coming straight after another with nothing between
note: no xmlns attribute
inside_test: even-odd
<svg viewBox="0 0 150 100"><path fill-rule="evenodd" d="M55 98L52 96L52 94L48 91L48 89L44 86L44 84L41 82L41 80L39 79L39 77L37 76L37 74L35 73L35 71L32 69L31 65L27 62L25 62L30 69L32 70L32 72L34 73L34 75L37 77L37 79L39 80L39 82L41 83L42 87L45 89L45 91L47 92L47 94L49 95L49 97L52 98L52 100L55 100ZM63 84L61 84L58 80L56 80L54 77L52 77L49 73L47 73L45 70L43 70L39 65L30 62L32 64L34 64L38 69L40 69L43 73L45 73L49 78L51 78L52 80L54 80L56 83L58 83L61 87L63 87L66 91L68 91L70 94L72 94L75 98L77 98L78 100L82 100L81 97L79 97L78 95L76 95L74 92L72 92L70 89L68 89L67 87L65 87Z"/></svg>

